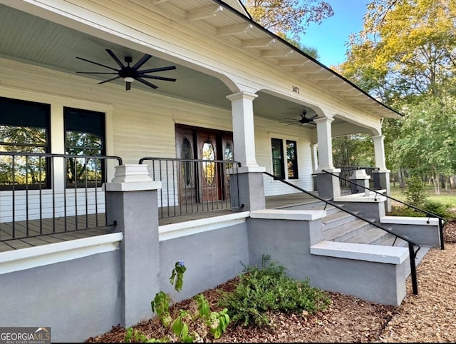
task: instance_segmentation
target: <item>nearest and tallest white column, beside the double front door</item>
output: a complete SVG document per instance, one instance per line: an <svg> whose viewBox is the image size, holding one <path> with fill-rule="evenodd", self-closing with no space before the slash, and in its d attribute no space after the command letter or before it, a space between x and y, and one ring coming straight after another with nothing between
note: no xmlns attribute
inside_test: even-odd
<svg viewBox="0 0 456 344"><path fill-rule="evenodd" d="M257 95L241 91L227 98L232 108L234 160L242 164L242 170L256 171L259 166L255 156L253 101Z"/></svg>

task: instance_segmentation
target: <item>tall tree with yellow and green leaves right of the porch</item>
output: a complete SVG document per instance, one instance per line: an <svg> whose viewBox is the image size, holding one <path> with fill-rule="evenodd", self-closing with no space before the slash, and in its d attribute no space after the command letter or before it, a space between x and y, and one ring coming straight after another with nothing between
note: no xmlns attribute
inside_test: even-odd
<svg viewBox="0 0 456 344"><path fill-rule="evenodd" d="M385 151L400 172L430 174L436 193L440 176L455 173L455 141L448 131L456 116L455 18L454 0L374 0L339 69L405 113L383 128L386 137L398 138L385 141Z"/></svg>

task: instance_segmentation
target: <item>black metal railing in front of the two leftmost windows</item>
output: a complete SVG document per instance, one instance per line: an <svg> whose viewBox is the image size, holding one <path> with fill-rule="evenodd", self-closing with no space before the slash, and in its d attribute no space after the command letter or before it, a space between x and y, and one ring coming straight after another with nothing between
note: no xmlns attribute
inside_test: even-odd
<svg viewBox="0 0 456 344"><path fill-rule="evenodd" d="M118 156L0 152L0 242L110 226L107 162ZM33 246L32 241L27 241Z"/></svg>

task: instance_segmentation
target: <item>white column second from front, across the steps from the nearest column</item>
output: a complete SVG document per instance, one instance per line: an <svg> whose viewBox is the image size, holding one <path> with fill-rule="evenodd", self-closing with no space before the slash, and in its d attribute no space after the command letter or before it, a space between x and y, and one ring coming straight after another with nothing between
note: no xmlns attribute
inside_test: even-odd
<svg viewBox="0 0 456 344"><path fill-rule="evenodd" d="M340 172L333 166L333 143L331 123L333 118L316 118L316 136L318 141L318 171Z"/></svg>

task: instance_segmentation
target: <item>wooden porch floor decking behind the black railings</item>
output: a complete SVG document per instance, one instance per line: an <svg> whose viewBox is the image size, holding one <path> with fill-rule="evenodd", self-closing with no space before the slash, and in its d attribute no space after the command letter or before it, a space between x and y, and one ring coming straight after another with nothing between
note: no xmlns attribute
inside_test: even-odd
<svg viewBox="0 0 456 344"><path fill-rule="evenodd" d="M316 198L306 195L306 193L291 193L287 195L266 197L266 209L281 208L294 204L309 203ZM242 211L242 208L239 208ZM160 213L160 212L159 212ZM163 213L167 214L167 211ZM219 209L214 211L204 211L202 213L192 213L182 216L171 216L159 218L159 225L164 226L172 223L181 223L201 218L210 218L233 213L232 209ZM77 226L76 226L77 221ZM15 236L26 236L26 221L18 221L14 224ZM53 231L52 228L55 228ZM93 228L93 229L76 229ZM65 218L46 218L28 221L28 237L11 239L13 236L13 223L0 223L0 252L13 251L21 248L46 245L49 243L59 243L71 241L79 238L89 238L110 233L110 228L106 226L105 214L99 213L98 219L95 214L89 216L67 216Z"/></svg>

